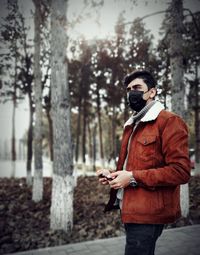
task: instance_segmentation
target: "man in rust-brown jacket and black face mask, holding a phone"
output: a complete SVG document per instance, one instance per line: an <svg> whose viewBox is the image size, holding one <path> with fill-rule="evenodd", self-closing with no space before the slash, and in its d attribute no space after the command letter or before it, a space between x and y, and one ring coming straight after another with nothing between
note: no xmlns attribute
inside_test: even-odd
<svg viewBox="0 0 200 255"><path fill-rule="evenodd" d="M190 178L188 130L154 100L151 73L133 72L124 84L134 114L124 125L117 171L103 169L97 175L111 187L105 211L121 209L125 255L153 255L164 224L181 216L180 184Z"/></svg>

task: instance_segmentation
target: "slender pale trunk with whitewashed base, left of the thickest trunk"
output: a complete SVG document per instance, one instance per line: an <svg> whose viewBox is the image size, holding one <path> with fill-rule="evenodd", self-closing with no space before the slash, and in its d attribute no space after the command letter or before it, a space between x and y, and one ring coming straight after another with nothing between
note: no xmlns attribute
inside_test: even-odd
<svg viewBox="0 0 200 255"><path fill-rule="evenodd" d="M34 52L34 88L35 88L35 127L34 127L34 159L35 171L33 179L32 199L35 202L42 200L43 196L43 166L42 166L42 74L40 67L41 45L41 1L33 0L35 4L35 52Z"/></svg>

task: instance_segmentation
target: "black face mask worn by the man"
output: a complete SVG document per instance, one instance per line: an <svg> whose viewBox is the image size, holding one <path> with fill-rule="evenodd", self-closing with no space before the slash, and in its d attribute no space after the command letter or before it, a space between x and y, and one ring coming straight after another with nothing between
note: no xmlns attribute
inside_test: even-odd
<svg viewBox="0 0 200 255"><path fill-rule="evenodd" d="M148 91L146 91L148 92ZM147 101L143 99L144 91L131 90L128 92L127 100L130 108L136 112L142 110L145 107Z"/></svg>

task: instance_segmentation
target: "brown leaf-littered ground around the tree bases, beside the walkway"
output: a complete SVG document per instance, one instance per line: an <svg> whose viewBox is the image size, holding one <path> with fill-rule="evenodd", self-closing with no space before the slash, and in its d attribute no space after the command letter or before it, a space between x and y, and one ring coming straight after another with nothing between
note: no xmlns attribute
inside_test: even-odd
<svg viewBox="0 0 200 255"><path fill-rule="evenodd" d="M167 228L200 224L200 176L192 177L190 215ZM119 211L104 213L109 188L97 177L79 177L74 192L74 227L71 234L49 229L51 179L44 178L44 198L31 200L26 180L0 178L0 254L119 236Z"/></svg>

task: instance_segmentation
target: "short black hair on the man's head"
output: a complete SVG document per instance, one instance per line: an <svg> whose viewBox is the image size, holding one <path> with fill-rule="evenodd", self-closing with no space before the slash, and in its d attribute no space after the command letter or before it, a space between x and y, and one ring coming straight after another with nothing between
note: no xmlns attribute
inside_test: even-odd
<svg viewBox="0 0 200 255"><path fill-rule="evenodd" d="M124 78L124 85L127 87L130 82L132 82L133 80L137 78L142 79L146 83L148 89L156 87L155 78L149 71L146 71L146 70L134 71L126 75Z"/></svg>

